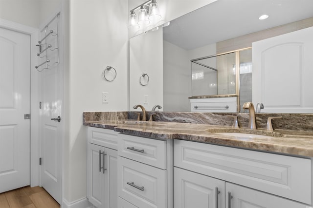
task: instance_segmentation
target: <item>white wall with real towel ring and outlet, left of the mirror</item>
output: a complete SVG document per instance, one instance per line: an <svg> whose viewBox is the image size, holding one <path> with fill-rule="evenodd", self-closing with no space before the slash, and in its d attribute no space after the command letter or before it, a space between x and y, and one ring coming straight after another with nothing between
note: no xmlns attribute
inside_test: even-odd
<svg viewBox="0 0 313 208"><path fill-rule="evenodd" d="M86 127L82 113L128 109L128 9L127 0L69 0L64 7L69 22L65 25L67 141L63 181L64 200L74 202L87 194ZM106 66L117 71L112 82L101 77ZM109 93L108 104L101 102L102 92Z"/></svg>

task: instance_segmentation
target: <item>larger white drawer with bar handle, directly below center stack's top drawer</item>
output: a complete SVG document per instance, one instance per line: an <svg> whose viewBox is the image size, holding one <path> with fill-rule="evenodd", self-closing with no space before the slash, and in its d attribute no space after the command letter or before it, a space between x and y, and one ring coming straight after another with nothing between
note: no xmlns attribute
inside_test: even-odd
<svg viewBox="0 0 313 208"><path fill-rule="evenodd" d="M118 196L138 208L167 207L167 170L118 158Z"/></svg>

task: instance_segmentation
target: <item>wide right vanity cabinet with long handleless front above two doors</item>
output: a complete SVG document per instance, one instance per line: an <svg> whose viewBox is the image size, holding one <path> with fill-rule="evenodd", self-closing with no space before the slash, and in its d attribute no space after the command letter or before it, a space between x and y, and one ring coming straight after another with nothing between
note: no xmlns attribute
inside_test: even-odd
<svg viewBox="0 0 313 208"><path fill-rule="evenodd" d="M311 159L175 140L174 166L175 208L312 205Z"/></svg>

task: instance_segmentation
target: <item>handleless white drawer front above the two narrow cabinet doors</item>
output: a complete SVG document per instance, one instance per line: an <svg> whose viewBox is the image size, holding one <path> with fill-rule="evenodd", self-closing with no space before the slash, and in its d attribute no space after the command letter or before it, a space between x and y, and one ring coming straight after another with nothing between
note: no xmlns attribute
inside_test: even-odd
<svg viewBox="0 0 313 208"><path fill-rule="evenodd" d="M117 134L109 129L87 127L88 142L117 150Z"/></svg>

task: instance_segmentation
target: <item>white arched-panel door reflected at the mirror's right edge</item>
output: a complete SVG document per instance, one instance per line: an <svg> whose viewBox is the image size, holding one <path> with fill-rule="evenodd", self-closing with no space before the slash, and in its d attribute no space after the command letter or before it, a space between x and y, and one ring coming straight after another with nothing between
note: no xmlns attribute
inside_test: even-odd
<svg viewBox="0 0 313 208"><path fill-rule="evenodd" d="M252 102L265 113L313 113L313 27L252 43Z"/></svg>

